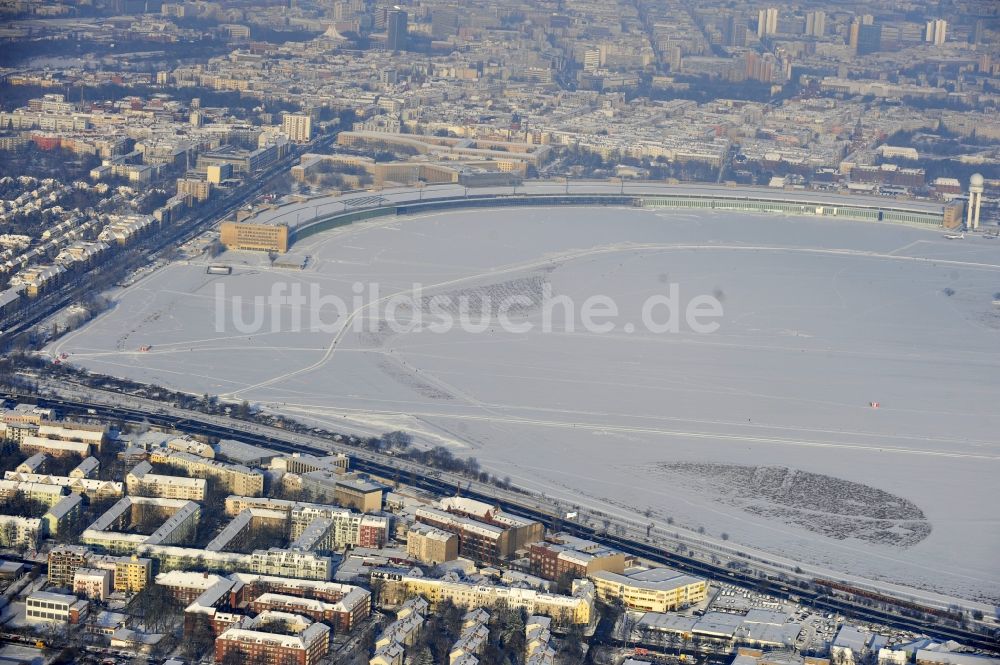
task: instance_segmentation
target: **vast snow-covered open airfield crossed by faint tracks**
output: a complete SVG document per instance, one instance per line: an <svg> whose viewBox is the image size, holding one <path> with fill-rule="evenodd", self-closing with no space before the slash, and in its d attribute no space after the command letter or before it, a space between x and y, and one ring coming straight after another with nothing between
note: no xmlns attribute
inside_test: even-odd
<svg viewBox="0 0 1000 665"><path fill-rule="evenodd" d="M245 254L219 259L229 276L170 265L50 351L334 428L407 429L550 496L650 507L845 573L1000 598L1000 240L535 208L368 222L293 252L310 257L304 271ZM233 297L249 322L249 300L279 282L347 303L356 282L382 296L420 283L425 308L434 295L517 294L511 320L535 329L396 333L352 307L336 322L327 308L324 331L292 331L286 306L240 332ZM610 296L615 329L586 332L577 317L568 332L557 315L540 330L546 284L578 309ZM642 303L671 284L682 304L717 298L719 330L647 330Z"/></svg>

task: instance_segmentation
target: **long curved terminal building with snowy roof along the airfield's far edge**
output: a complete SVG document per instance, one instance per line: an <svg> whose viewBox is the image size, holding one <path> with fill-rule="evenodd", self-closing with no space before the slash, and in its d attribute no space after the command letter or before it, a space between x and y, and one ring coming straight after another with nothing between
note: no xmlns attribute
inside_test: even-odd
<svg viewBox="0 0 1000 665"><path fill-rule="evenodd" d="M400 189L374 196L325 197L283 206L253 221L288 224L294 238L302 239L344 224L387 215L475 207L561 205L729 210L933 226L941 226L945 215L940 204L822 192L609 183L575 183L569 187L557 183L477 190L446 186Z"/></svg>

